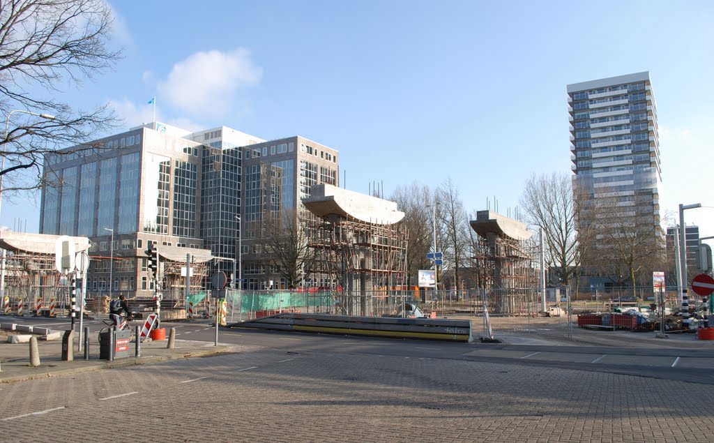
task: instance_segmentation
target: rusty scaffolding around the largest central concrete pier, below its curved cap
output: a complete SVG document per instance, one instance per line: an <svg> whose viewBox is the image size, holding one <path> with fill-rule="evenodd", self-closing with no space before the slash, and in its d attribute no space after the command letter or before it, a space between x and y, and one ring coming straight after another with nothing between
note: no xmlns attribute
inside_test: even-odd
<svg viewBox="0 0 714 443"><path fill-rule="evenodd" d="M372 315L378 292L385 303L406 287L407 232L402 224L376 224L352 216L330 216L308 225L315 252L312 274L336 281L338 313Z"/></svg>

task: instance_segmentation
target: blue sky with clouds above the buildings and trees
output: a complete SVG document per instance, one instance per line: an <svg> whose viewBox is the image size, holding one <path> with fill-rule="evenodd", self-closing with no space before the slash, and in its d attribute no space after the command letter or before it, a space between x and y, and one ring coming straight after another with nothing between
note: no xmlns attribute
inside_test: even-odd
<svg viewBox="0 0 714 443"><path fill-rule="evenodd" d="M114 71L81 88L129 128L301 135L340 151L346 187L451 178L468 211L518 206L531 174L570 172L565 85L650 71L660 204L714 206L710 1L114 1ZM38 200L39 201L39 200ZM39 204L1 224L36 232ZM714 207L686 220L714 235Z"/></svg>

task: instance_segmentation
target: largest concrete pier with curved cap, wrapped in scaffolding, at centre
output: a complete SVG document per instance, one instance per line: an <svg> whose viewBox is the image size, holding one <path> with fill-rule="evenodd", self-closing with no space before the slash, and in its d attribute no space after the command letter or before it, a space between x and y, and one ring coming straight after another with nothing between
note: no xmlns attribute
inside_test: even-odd
<svg viewBox="0 0 714 443"><path fill-rule="evenodd" d="M336 281L336 314L392 312L406 294L407 232L404 213L393 201L331 185L314 186L303 200L315 215L308 246L315 253L313 273Z"/></svg>

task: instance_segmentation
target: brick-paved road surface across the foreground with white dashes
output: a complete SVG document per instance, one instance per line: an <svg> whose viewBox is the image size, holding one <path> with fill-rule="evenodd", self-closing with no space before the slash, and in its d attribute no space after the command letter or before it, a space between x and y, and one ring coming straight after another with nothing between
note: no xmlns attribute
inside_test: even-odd
<svg viewBox="0 0 714 443"><path fill-rule="evenodd" d="M259 347L0 384L0 398L2 442L694 442L714 432L710 384Z"/></svg>

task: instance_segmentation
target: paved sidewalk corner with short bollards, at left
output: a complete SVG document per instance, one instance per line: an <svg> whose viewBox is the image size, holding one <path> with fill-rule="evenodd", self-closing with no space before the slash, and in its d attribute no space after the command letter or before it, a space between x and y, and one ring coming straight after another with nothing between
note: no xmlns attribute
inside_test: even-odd
<svg viewBox="0 0 714 443"><path fill-rule="evenodd" d="M17 382L42 377L56 377L64 374L95 371L97 369L161 362L162 360L168 359L207 357L216 354L237 352L238 349L241 348L241 346L233 344L219 343L218 346L214 346L213 343L176 339L174 342L175 349L166 349L166 345L169 343L169 330L167 329L167 337L165 340L145 340L141 343L141 357L134 357L135 343L131 342L129 344L129 355L131 357L109 362L108 360L99 359L99 343L96 340L96 333L94 333L95 337L90 340L89 344L89 360L84 359L84 349L82 352L77 351L76 336L74 343L74 361L71 362L64 362L61 359L61 339L49 342L38 339L40 366L30 367L29 343L10 344L7 342L7 336L9 334L11 334L11 332L0 330L0 383Z"/></svg>

